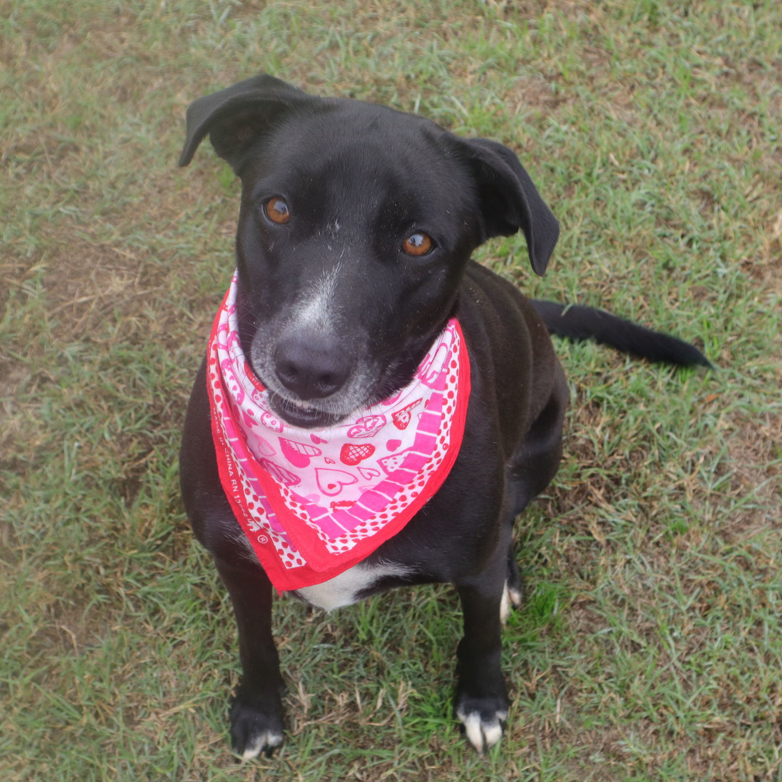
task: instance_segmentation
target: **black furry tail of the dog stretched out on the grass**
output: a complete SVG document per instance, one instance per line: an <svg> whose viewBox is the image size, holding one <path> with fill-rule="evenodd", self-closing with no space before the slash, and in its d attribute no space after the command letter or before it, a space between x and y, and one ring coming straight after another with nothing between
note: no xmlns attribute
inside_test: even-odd
<svg viewBox="0 0 782 782"><path fill-rule="evenodd" d="M712 364L697 347L668 334L653 332L604 310L532 300L537 314L552 334L568 339L594 339L598 343L632 353L647 361L663 361L689 367Z"/></svg>

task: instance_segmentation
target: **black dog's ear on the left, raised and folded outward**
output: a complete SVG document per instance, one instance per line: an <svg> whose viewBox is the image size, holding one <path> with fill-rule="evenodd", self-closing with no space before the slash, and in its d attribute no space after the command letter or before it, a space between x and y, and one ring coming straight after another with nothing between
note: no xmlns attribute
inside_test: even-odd
<svg viewBox="0 0 782 782"><path fill-rule="evenodd" d="M187 110L187 138L179 165L192 160L208 133L214 151L238 170L256 136L286 109L307 100L312 98L306 92L260 74L193 101Z"/></svg>

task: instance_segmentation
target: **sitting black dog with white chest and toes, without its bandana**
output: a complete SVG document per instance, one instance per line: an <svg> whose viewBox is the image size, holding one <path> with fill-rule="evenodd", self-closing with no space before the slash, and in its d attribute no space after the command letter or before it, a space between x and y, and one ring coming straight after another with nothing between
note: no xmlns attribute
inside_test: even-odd
<svg viewBox="0 0 782 782"><path fill-rule="evenodd" d="M189 106L181 166L207 134L242 181L242 348L286 424L322 429L386 400L458 317L472 390L450 474L399 533L299 596L330 609L404 584L454 583L464 610L456 713L481 752L499 740L508 712L500 627L520 598L513 521L561 457L568 391L549 330L652 360L708 362L680 340L598 310L530 302L470 260L487 239L522 230L543 274L558 239L554 215L503 145L382 106L312 97L269 76ZM231 741L252 758L282 742L283 682L271 584L218 475L205 364L180 463L188 517L239 626Z"/></svg>

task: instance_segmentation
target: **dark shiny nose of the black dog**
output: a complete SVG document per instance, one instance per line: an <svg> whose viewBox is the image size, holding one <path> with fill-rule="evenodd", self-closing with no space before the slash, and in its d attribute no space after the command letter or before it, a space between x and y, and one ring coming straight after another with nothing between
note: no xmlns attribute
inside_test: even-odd
<svg viewBox="0 0 782 782"><path fill-rule="evenodd" d="M350 375L350 361L338 348L322 336L285 339L274 352L274 371L300 399L322 399L341 389Z"/></svg>

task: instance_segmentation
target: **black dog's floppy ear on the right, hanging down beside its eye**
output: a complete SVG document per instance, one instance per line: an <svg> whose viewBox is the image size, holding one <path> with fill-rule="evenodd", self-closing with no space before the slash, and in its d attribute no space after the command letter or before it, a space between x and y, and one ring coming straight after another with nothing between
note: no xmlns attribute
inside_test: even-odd
<svg viewBox="0 0 782 782"><path fill-rule="evenodd" d="M524 231L533 270L541 277L559 238L559 223L543 203L515 152L486 138L462 138L483 214L485 239Z"/></svg>

